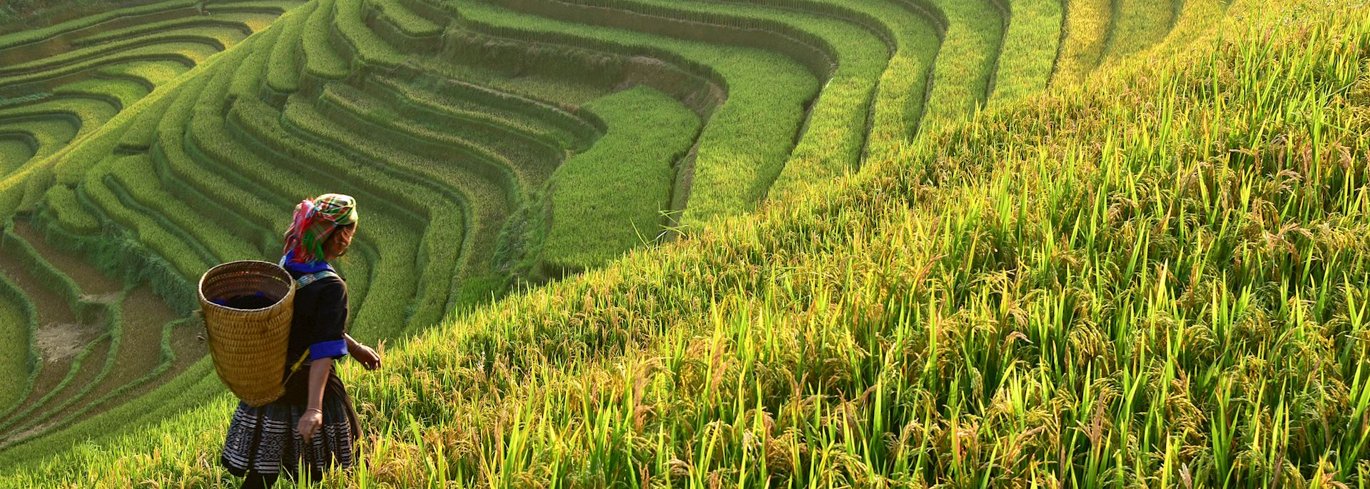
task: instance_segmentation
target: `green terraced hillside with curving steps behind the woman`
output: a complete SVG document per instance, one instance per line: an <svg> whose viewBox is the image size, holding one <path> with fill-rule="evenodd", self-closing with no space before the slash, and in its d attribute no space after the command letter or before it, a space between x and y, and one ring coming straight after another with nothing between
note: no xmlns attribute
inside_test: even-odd
<svg viewBox="0 0 1370 489"><path fill-rule="evenodd" d="M218 399L193 281L274 259L301 197L359 197L351 327L404 337L1181 49L1225 8L174 0L3 36L0 373L23 381L0 463Z"/></svg>

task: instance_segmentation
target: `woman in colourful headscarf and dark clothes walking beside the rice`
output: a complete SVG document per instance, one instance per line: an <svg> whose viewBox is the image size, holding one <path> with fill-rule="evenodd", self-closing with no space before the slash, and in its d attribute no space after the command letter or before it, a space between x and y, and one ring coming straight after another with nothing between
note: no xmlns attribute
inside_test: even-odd
<svg viewBox="0 0 1370 489"><path fill-rule="evenodd" d="M375 370L381 358L347 336L347 284L329 260L347 252L356 219L356 200L344 195L327 193L295 207L281 258L299 285L285 394L262 407L238 403L219 459L229 473L245 478L244 488L270 488L281 474L293 479L303 473L318 481L325 470L355 462L356 411L333 360L352 355Z"/></svg>

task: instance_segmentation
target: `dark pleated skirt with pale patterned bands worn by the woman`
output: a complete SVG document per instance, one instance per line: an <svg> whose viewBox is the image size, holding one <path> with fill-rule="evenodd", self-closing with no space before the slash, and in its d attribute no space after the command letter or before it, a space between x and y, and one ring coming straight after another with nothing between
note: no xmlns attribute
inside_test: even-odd
<svg viewBox="0 0 1370 489"><path fill-rule="evenodd" d="M307 371L307 368L306 368ZM262 407L238 403L223 441L219 463L233 475L255 474L319 474L329 468L349 468L353 464L352 445L360 433L352 400L342 389L342 381L329 374L323 388L323 425L310 442L295 430L306 411L308 375L303 382L288 382L279 400Z"/></svg>

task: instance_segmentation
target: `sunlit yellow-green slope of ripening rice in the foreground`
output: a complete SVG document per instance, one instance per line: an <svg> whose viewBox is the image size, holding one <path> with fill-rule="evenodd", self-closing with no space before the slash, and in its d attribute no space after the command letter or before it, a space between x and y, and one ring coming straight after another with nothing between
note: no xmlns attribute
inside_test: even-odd
<svg viewBox="0 0 1370 489"><path fill-rule="evenodd" d="M1306 7L348 367L332 485L1363 484L1370 16ZM0 485L208 485L227 410Z"/></svg>

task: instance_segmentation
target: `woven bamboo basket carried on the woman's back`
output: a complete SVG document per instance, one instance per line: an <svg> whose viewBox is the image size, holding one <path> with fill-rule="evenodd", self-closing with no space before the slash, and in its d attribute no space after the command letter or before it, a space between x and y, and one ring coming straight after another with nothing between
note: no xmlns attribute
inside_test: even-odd
<svg viewBox="0 0 1370 489"><path fill-rule="evenodd" d="M215 304L262 293L274 304L236 310ZM248 405L271 403L285 393L285 348L295 314L295 279L274 263L244 260L210 268L200 277L200 308L208 330L214 370Z"/></svg>

